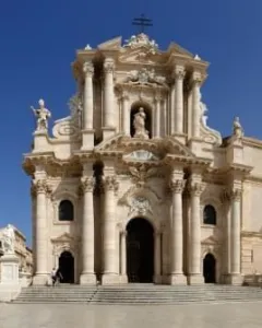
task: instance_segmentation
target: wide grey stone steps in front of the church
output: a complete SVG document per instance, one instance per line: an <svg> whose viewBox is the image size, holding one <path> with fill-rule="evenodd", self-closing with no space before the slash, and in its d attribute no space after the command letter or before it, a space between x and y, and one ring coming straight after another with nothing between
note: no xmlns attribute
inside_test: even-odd
<svg viewBox="0 0 262 328"><path fill-rule="evenodd" d="M114 286L29 286L13 303L189 304L262 301L262 289L230 285L169 286L127 284Z"/></svg>

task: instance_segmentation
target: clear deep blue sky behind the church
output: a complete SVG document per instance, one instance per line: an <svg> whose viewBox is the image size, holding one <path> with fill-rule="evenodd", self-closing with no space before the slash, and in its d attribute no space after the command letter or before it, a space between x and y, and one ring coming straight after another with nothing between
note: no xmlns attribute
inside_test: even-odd
<svg viewBox="0 0 262 328"><path fill-rule="evenodd" d="M35 127L29 109L39 97L52 119L68 115L74 93L75 50L136 32L145 12L148 34L165 49L174 40L211 62L203 87L209 125L227 136L235 115L246 136L262 139L261 0L9 0L0 3L0 225L13 223L31 244L29 178L22 154Z"/></svg>

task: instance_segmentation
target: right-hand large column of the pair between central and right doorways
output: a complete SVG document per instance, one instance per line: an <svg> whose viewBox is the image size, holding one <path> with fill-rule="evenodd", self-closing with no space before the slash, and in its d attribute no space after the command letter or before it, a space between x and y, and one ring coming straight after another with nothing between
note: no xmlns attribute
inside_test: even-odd
<svg viewBox="0 0 262 328"><path fill-rule="evenodd" d="M201 176L191 177L191 222L190 222L190 266L189 266L189 283L204 283L201 272L201 216L200 216L200 196L205 185L201 181Z"/></svg>

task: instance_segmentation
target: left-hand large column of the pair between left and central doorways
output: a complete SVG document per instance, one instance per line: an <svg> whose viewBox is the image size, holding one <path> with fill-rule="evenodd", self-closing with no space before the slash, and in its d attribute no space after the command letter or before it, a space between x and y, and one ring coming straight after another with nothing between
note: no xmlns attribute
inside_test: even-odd
<svg viewBox="0 0 262 328"><path fill-rule="evenodd" d="M93 173L93 172L92 172ZM82 273L81 284L95 284L95 232L94 232L94 199L95 186L93 176L84 176L81 179L83 192L83 220L82 220Z"/></svg>

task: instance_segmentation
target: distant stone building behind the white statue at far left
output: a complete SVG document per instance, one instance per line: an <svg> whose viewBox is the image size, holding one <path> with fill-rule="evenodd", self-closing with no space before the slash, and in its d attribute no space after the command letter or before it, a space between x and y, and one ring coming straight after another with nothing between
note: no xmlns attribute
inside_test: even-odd
<svg viewBox="0 0 262 328"><path fill-rule="evenodd" d="M15 226L13 226L14 229L14 251L16 257L19 258L19 267L20 267L20 271L24 271L27 273L33 273L33 254L32 254L32 249L29 247L26 246L26 238L24 236L24 234ZM2 232L4 229L0 230L0 243L1 243L1 253L0 255L3 255L3 250L2 250L2 242L1 242L1 237L2 237ZM1 274L1 272L0 272Z"/></svg>

